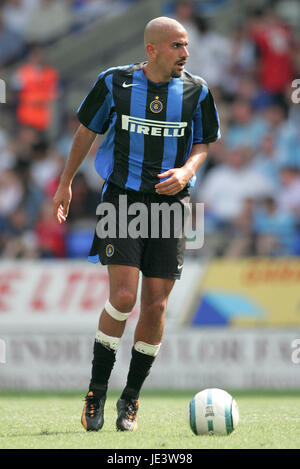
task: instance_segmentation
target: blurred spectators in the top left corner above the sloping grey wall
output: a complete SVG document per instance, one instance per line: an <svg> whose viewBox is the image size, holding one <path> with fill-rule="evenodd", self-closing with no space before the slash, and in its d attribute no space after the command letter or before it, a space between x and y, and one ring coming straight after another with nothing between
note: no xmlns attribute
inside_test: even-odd
<svg viewBox="0 0 300 469"><path fill-rule="evenodd" d="M26 56L31 43L51 44L130 0L0 0L0 70Z"/></svg>

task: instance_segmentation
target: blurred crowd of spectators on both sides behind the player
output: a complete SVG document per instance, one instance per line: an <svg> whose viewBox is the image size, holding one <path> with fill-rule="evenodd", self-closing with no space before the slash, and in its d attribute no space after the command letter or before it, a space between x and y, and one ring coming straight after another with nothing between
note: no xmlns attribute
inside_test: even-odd
<svg viewBox="0 0 300 469"><path fill-rule="evenodd" d="M1 3L0 44L9 31L22 33L23 44L34 39L38 46L28 47L26 60L12 79L18 96L10 110L16 121L14 135L0 124L0 255L86 257L101 187L93 158L102 137L74 180L68 222L59 225L52 216L52 197L78 121L68 115L59 135L49 137L59 71L44 63L43 39L26 38L29 30L36 32L29 27L34 15L49 5L59 4L74 19L78 9L88 12L95 4L107 8L117 2ZM199 16L197 2L174 5L172 14L190 38L186 68L207 81L222 131L221 140L210 145L191 191L193 203L205 204L205 242L190 255L300 255L300 90L292 86L300 78L300 37L294 27L295 2L284 2L285 15L282 3L247 11L227 35L211 26L209 16ZM14 15L18 8L24 9L22 18ZM33 109L34 100L39 106Z"/></svg>

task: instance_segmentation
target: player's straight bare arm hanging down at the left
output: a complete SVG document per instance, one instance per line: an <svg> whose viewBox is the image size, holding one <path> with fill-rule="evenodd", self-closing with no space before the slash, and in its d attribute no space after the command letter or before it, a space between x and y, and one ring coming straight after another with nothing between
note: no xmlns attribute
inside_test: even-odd
<svg viewBox="0 0 300 469"><path fill-rule="evenodd" d="M60 183L53 197L53 213L59 223L66 221L72 198L72 182L78 168L88 154L97 134L80 124L74 136L72 148Z"/></svg>

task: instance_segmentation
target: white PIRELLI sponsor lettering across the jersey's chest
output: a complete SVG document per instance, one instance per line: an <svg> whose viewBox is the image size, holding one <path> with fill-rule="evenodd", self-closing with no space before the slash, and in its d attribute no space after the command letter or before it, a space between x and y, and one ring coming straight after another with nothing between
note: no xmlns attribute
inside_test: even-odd
<svg viewBox="0 0 300 469"><path fill-rule="evenodd" d="M183 137L187 122L168 122L122 115L122 130L153 137Z"/></svg>

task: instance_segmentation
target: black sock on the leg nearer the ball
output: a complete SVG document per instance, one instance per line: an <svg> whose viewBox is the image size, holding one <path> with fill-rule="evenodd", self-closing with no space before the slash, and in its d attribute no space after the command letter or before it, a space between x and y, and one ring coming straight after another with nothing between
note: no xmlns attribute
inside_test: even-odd
<svg viewBox="0 0 300 469"><path fill-rule="evenodd" d="M150 373L154 360L155 357L138 352L135 348L132 348L127 383L121 394L121 399L138 399L140 390Z"/></svg>

